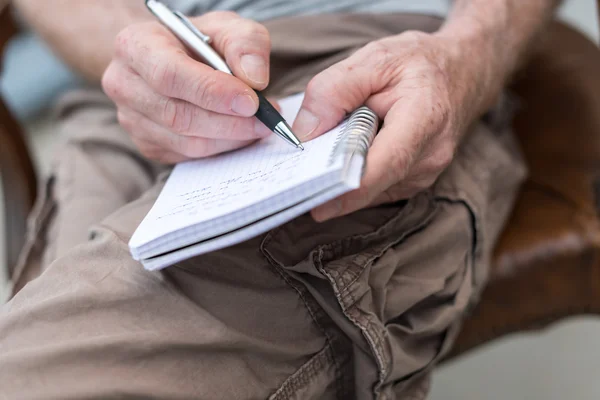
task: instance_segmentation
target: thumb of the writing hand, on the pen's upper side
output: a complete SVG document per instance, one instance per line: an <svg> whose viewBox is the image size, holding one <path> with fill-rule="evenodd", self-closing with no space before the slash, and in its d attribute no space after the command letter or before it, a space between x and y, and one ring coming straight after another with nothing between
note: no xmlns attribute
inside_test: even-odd
<svg viewBox="0 0 600 400"><path fill-rule="evenodd" d="M192 21L212 38L236 77L254 89L267 87L271 52L267 28L226 11L207 13Z"/></svg>

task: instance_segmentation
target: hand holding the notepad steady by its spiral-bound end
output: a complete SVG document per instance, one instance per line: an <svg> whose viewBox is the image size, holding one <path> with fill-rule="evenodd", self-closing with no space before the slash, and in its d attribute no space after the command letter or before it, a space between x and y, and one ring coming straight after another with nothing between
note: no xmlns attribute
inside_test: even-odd
<svg viewBox="0 0 600 400"><path fill-rule="evenodd" d="M362 104L384 119L361 187L313 210L317 221L409 198L435 182L480 108L470 89L481 88L477 72L458 48L435 34L406 32L368 44L309 82L293 127L301 140Z"/></svg>

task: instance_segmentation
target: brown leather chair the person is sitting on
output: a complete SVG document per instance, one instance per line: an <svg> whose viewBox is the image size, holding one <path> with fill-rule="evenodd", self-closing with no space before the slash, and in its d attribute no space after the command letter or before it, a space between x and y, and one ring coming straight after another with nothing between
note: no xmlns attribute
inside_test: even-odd
<svg viewBox="0 0 600 400"><path fill-rule="evenodd" d="M0 51L15 32L7 5L0 0ZM512 89L523 103L514 129L530 176L497 245L491 281L448 358L600 313L600 50L554 22ZM10 275L37 182L22 130L1 99L0 173Z"/></svg>

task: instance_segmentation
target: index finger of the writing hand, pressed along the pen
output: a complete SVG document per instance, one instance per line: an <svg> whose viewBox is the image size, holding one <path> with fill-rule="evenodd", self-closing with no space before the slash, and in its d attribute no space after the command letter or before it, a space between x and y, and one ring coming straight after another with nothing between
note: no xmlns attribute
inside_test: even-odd
<svg viewBox="0 0 600 400"><path fill-rule="evenodd" d="M116 55L163 96L222 114L252 116L258 109L256 93L244 82L191 58L159 24L122 31Z"/></svg>

